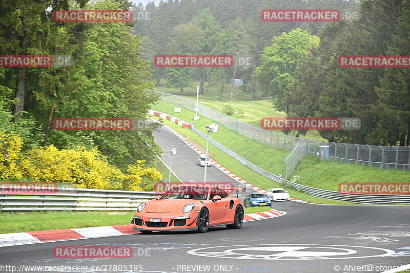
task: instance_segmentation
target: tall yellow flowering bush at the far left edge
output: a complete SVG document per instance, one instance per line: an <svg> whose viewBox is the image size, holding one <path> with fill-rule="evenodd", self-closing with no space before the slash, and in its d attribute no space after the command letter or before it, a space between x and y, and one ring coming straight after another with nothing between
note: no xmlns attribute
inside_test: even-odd
<svg viewBox="0 0 410 273"><path fill-rule="evenodd" d="M23 147L23 138L0 132L0 177L2 179L23 178L18 164Z"/></svg>

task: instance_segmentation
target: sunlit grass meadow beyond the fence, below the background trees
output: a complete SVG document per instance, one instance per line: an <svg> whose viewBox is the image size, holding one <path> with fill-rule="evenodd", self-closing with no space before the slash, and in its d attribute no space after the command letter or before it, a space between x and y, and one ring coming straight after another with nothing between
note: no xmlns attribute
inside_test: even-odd
<svg viewBox="0 0 410 273"><path fill-rule="evenodd" d="M199 85L198 81L193 82L192 88L184 90L182 97L196 100L196 86ZM179 89L167 88L164 81L161 81L160 85L155 86L156 90L167 92L174 95L180 95ZM216 87L210 87L206 93L199 98L199 103L204 106L208 106L215 109L219 113L223 112L223 108L226 104L230 103L231 99L231 86L225 85L225 90L222 96L222 101L219 101L219 89ZM233 114L232 117L240 121L251 124L255 127L260 127L260 119L263 117L285 117L286 113L277 111L273 108L272 100L269 97L264 97L258 100L252 99L251 93L242 93L239 87L234 87L232 106L235 110L241 111L241 113ZM275 130L276 133L283 134L281 130ZM299 135L301 138L315 139L318 141L326 141L323 139L317 130L311 130L306 133L306 136Z"/></svg>

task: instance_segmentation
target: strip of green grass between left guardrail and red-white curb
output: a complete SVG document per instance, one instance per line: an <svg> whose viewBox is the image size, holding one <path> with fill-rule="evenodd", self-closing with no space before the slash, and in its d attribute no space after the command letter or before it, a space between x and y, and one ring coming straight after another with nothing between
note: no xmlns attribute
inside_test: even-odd
<svg viewBox="0 0 410 273"><path fill-rule="evenodd" d="M130 212L16 212L0 213L0 234L35 232L50 229L81 228L129 224L134 215Z"/></svg>

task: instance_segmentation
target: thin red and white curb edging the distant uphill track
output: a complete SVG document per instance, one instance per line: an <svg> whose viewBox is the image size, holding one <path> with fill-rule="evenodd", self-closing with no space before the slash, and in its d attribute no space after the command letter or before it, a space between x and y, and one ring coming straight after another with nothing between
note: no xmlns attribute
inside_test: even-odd
<svg viewBox="0 0 410 273"><path fill-rule="evenodd" d="M166 114L166 113L149 110L149 114L150 114L150 115L153 115L153 116L157 116L157 117L161 117L161 118L170 120L170 121L172 121L172 122L175 122L175 121L173 121L173 120L178 120L178 122L175 122L175 123L177 123L178 125L180 125L179 123L181 123L181 124L189 124L189 123L186 122L186 121L183 121L183 120L181 120L181 119L177 119L176 117L171 116L171 115ZM167 129L170 130L172 133L174 133L177 137L179 137L179 138L180 138L183 142L185 142L188 146L190 146L192 150L194 150L196 153L198 153L198 155L205 156L205 154L202 153L198 148L196 148L194 144L192 144L188 139L186 139L186 138L183 137L181 134L179 134L176 130L172 129L170 126L168 126L168 125L165 124L165 123L161 123L161 124L163 125L163 127L167 128ZM180 125L180 126L181 126L181 127L188 128L188 127L186 127L186 125ZM190 125L189 129L190 129L190 128L191 128L191 125ZM235 181L241 183L242 185L247 186L247 187L251 188L252 190L254 190L254 191L258 192L258 193L264 193L264 194L267 193L267 191L264 191L264 190L262 190L261 188L258 188L258 187L256 187L256 186L254 186L253 184L251 184L251 183L249 183L249 182L243 180L243 179L240 178L239 176L237 176L237 175L233 174L232 172L230 172L229 170L225 169L221 164L219 164L218 162L216 162L215 160L213 160L213 159L210 158L210 157L209 157L209 161L211 162L211 164L213 164L214 166L216 166L216 167L217 167L220 171L222 171L224 174L230 176L232 179L234 179ZM290 198L290 200L291 200L291 201L297 201L297 202L304 202L304 201L302 201L302 200L295 199L295 198Z"/></svg>

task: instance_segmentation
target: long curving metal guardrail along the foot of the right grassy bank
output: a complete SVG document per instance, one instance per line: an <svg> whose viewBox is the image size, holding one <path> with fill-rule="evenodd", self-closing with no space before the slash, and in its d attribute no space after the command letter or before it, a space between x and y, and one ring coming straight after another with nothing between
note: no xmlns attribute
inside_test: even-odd
<svg viewBox="0 0 410 273"><path fill-rule="evenodd" d="M207 135L200 132L198 129L192 127L191 129L195 134L198 136L206 139ZM303 192L312 196L322 197L331 200L340 200L340 201L348 201L348 202L355 202L359 204L410 204L410 195L350 195L350 194L341 194L335 191L329 190L322 190L320 188L310 187L301 185L295 182L288 181L283 179L277 175L274 175L270 172L267 172L260 167L256 166L255 164L251 163L250 161L244 159L243 157L239 156L235 152L229 150L222 144L218 143L216 140L209 138L209 142L213 144L216 148L221 150L222 152L230 155L240 163L245 166L248 166L251 170L255 171L256 173L272 180L277 183L280 183L284 187L290 187L298 192Z"/></svg>

